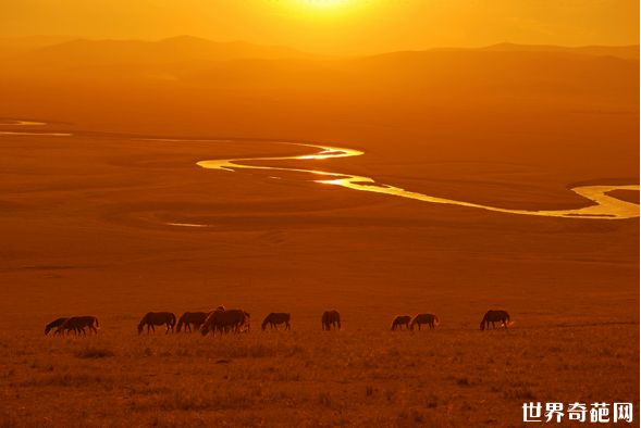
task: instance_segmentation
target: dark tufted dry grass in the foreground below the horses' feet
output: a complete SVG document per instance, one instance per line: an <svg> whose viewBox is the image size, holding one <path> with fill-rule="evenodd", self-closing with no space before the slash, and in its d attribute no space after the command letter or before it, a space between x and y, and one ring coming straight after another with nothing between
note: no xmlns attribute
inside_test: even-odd
<svg viewBox="0 0 641 428"><path fill-rule="evenodd" d="M2 335L3 426L509 427L525 401L638 396L629 324L212 339L104 322L88 339Z"/></svg>

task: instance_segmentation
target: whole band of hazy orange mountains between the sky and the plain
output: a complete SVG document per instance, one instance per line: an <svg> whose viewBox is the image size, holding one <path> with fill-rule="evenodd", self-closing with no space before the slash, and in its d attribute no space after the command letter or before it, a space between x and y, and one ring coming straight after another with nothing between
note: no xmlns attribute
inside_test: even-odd
<svg viewBox="0 0 641 428"><path fill-rule="evenodd" d="M22 40L2 47L4 81L125 81L182 85L270 97L404 98L431 103L511 99L597 100L638 104L639 47L521 46L431 49L362 56L322 56L278 46L214 42L190 36L160 41ZM59 40L57 40L59 41ZM11 51L11 53L7 53ZM630 91L632 88L632 91ZM634 89L637 88L637 89ZM632 93L634 92L636 93Z"/></svg>

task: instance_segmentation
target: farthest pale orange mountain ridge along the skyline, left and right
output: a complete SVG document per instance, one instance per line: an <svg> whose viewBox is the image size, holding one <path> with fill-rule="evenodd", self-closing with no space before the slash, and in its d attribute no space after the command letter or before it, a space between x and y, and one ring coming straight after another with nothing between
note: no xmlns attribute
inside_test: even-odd
<svg viewBox="0 0 641 428"><path fill-rule="evenodd" d="M567 48L500 43L479 49L439 48L411 52L557 52L639 60L639 46L589 46ZM395 53L395 52L392 52ZM385 55L385 53L383 53ZM380 55L370 55L380 56ZM86 67L112 64L160 64L170 62L233 61L241 59L319 59L282 46L262 46L245 41L218 42L192 36L177 36L159 41L87 40L65 36L34 36L0 39L0 60L32 66Z"/></svg>

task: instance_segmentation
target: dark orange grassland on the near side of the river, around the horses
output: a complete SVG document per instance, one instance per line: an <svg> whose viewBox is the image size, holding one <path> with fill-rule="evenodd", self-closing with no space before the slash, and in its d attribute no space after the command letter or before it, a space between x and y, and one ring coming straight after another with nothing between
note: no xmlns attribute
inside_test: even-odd
<svg viewBox="0 0 641 428"><path fill-rule="evenodd" d="M194 165L280 148L5 137L0 150L3 426L511 427L525 401L639 401L638 221L496 215ZM500 193L478 191L470 168L444 189ZM528 177L502 188L584 203ZM254 330L136 333L147 311L219 304L250 312ZM331 307L343 331L320 330ZM491 307L514 329L480 332ZM292 332L257 331L272 311L293 314ZM418 312L442 325L390 331ZM98 316L99 335L44 337L74 314Z"/></svg>

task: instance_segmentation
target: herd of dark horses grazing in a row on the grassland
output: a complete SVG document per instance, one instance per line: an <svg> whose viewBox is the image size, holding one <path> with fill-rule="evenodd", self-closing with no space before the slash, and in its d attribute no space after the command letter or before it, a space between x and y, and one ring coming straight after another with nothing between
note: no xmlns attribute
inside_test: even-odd
<svg viewBox="0 0 641 428"><path fill-rule="evenodd" d="M285 330L291 330L292 325L289 322L292 316L288 313L272 312L267 315L261 324L261 329L279 329L279 325L284 325ZM490 328L496 328L498 326L507 328L510 324L510 317L507 311L488 311L483 316L480 324L480 329L484 330ZM414 330L415 327L421 329L421 325L427 325L431 330L440 324L439 317L433 314L418 314L415 317L409 315L398 315L392 322L392 330L402 330L405 327L406 330ZM185 312L177 320L176 316L171 312L148 312L145 314L140 323L138 323L138 335L140 335L145 328L147 333L156 332L156 326L164 326L165 333L184 331L200 331L202 336L207 336L211 332L215 336L215 332L227 333L227 332L248 332L250 327L250 315L243 310L225 310L224 306L218 306L211 312ZM323 330L340 330L341 329L341 314L338 311L325 311L321 317L321 326ZM72 316L72 317L60 317L53 322L47 324L45 327L45 336L53 329L54 335L69 335L71 332L76 336L87 336L87 328L89 333L98 333L98 318L95 316Z"/></svg>

